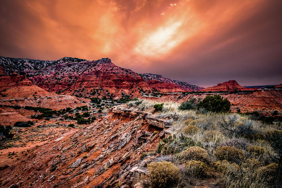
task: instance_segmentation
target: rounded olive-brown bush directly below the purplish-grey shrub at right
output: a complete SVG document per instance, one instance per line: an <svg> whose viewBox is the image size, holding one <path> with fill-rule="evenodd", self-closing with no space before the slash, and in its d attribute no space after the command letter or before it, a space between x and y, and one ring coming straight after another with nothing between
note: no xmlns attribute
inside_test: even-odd
<svg viewBox="0 0 282 188"><path fill-rule="evenodd" d="M242 150L230 146L217 147L215 156L219 160L227 160L229 162L237 162L244 158Z"/></svg>

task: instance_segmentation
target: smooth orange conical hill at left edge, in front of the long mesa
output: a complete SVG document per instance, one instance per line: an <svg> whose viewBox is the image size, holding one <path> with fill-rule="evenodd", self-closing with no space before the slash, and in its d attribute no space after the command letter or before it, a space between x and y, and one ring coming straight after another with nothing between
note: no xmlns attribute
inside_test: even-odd
<svg viewBox="0 0 282 188"><path fill-rule="evenodd" d="M50 93L32 83L25 75L0 76L0 104L61 109L82 106L73 96Z"/></svg>

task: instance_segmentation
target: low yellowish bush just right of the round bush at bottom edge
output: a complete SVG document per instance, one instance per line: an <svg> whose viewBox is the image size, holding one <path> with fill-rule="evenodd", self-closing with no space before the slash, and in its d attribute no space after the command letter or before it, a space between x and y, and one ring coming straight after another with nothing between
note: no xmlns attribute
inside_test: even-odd
<svg viewBox="0 0 282 188"><path fill-rule="evenodd" d="M188 176L190 177L205 177L207 175L208 167L206 163L203 163L201 161L191 160L185 163L186 167L186 173L188 173Z"/></svg>

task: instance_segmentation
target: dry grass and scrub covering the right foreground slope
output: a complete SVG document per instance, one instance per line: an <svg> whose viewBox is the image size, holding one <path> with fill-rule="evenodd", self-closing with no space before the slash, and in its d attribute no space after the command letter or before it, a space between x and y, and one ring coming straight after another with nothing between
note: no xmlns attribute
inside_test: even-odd
<svg viewBox="0 0 282 188"><path fill-rule="evenodd" d="M281 188L282 128L279 123L261 121L251 114L230 113L230 103L221 97L209 97L200 105L202 110L199 105L195 110L187 110L182 108L183 104L180 107L177 103L165 102L161 111L155 111L155 104L158 103L142 101L129 105L172 121L173 136L160 139L155 150L160 155L159 161L180 170L179 179L170 182L170 187L209 185L212 179L211 187ZM164 164L158 165L155 168L165 169ZM150 175L149 180L142 180L144 187L154 187L152 178Z"/></svg>

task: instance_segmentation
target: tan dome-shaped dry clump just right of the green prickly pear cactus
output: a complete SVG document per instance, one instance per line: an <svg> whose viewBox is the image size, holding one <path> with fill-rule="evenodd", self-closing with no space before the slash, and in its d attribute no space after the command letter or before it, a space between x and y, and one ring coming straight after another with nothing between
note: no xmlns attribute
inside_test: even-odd
<svg viewBox="0 0 282 188"><path fill-rule="evenodd" d="M199 146L192 146L184 150L180 156L188 160L197 160L197 161L208 161L208 153L205 149L200 148Z"/></svg>

